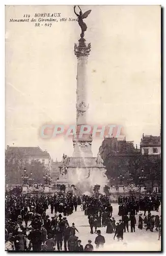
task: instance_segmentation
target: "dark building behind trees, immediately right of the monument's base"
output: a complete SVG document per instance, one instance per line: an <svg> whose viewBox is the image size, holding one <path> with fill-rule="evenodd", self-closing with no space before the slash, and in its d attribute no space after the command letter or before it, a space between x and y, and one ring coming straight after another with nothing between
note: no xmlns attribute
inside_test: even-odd
<svg viewBox="0 0 166 256"><path fill-rule="evenodd" d="M133 141L105 138L99 153L106 166L107 177L113 185L129 184L132 181L129 174L139 170L138 159L141 152L134 147Z"/></svg>

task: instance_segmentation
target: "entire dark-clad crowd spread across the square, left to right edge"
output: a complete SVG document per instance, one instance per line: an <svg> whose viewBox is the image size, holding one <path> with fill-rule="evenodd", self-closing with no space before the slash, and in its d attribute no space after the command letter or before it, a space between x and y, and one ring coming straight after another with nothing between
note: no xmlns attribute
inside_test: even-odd
<svg viewBox="0 0 166 256"><path fill-rule="evenodd" d="M90 233L96 233L96 249L103 247L104 236L98 228L106 227L106 233L114 233L114 239L123 240L123 232L128 231L130 222L131 232L135 232L135 215L140 210L148 211L143 220L139 215L139 229L153 231L155 227L161 233L161 220L159 216L151 216L151 210L158 211L160 200L158 198L144 197L136 200L134 197L119 197L120 220L113 217L113 207L110 197L94 196L45 196L41 195L6 195L5 204L5 248L6 250L33 250L33 251L93 251L92 241L88 240L85 247L78 238L79 230L75 224L69 224L67 217L81 207L88 217ZM156 203L157 202L157 203ZM146 206L145 206L146 205ZM148 207L147 207L148 205ZM149 207L151 205L151 207ZM51 218L46 214L50 206ZM63 216L62 216L63 215ZM129 217L127 216L129 215ZM154 219L155 217L155 219ZM144 226L143 226L144 223Z"/></svg>

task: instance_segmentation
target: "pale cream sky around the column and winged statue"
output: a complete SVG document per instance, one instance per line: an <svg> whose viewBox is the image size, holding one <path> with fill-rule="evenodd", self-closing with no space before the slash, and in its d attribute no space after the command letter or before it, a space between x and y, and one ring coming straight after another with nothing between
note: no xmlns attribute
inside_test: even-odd
<svg viewBox="0 0 166 256"><path fill-rule="evenodd" d="M160 129L160 6L81 6L88 58L88 123L120 124L139 146ZM61 13L66 22L35 27L9 22L35 13ZM45 123L76 123L80 27L73 6L6 6L6 145L40 146L56 160L73 154L72 139L43 139ZM34 17L36 18L36 17ZM49 22L51 23L51 22ZM102 139L94 139L96 156ZM14 143L14 144L13 144Z"/></svg>

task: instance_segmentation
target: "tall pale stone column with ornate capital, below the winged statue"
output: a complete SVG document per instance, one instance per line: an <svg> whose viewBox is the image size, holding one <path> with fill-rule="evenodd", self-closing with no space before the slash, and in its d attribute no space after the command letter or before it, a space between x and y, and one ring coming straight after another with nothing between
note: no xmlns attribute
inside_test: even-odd
<svg viewBox="0 0 166 256"><path fill-rule="evenodd" d="M74 53L77 57L77 89L76 89L76 125L77 136L73 138L74 153L73 157L93 157L91 144L92 135L84 134L79 138L81 125L87 124L87 111L89 104L87 102L87 65L88 56L91 51L91 44L86 44L86 39L81 37L78 44L74 45Z"/></svg>

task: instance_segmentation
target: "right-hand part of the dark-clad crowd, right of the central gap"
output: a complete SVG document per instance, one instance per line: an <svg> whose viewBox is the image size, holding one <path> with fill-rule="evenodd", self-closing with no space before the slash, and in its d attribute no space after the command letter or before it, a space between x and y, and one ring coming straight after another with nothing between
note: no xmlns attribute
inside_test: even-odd
<svg viewBox="0 0 166 256"><path fill-rule="evenodd" d="M85 210L85 215L88 215L90 232L96 233L98 227L106 226L106 233L115 233L115 237L118 241L121 239L123 241L123 233L130 231L135 232L135 225L138 224L139 229L146 229L153 232L155 228L159 232L158 240L161 236L161 216L151 215L151 211L158 212L160 205L160 198L155 194L151 196L140 197L136 199L134 196L118 198L119 212L118 215L121 217L118 222L116 222L113 215L113 207L110 204L110 200L106 196L101 196L99 199L94 199L91 197L83 197L83 210ZM145 218L143 219L143 214L139 214L138 223L136 223L135 215L139 211L144 211ZM148 215L146 216L146 212ZM128 217L129 216L129 217ZM144 225L143 225L144 224Z"/></svg>

